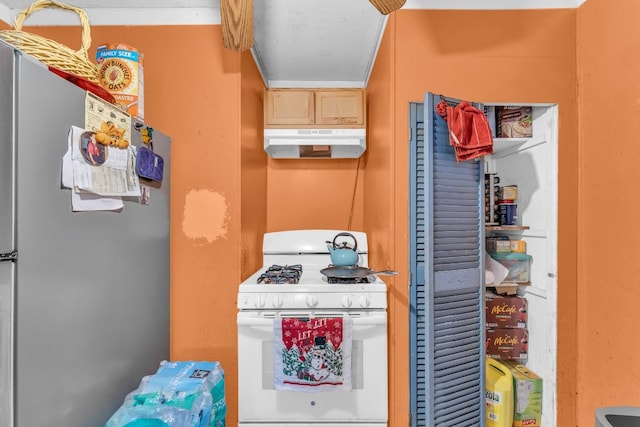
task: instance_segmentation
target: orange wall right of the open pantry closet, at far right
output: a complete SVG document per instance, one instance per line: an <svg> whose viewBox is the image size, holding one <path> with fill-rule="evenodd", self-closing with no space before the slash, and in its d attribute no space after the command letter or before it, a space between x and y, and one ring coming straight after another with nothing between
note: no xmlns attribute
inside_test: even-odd
<svg viewBox="0 0 640 427"><path fill-rule="evenodd" d="M599 406L640 406L638 17L640 4L634 0L614 7L588 0L578 11L581 426L593 424Z"/></svg>

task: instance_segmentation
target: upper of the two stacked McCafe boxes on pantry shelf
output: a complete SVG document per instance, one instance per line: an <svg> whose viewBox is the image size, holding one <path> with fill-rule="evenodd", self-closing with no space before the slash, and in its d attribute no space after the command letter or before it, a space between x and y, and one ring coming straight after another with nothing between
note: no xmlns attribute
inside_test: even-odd
<svg viewBox="0 0 640 427"><path fill-rule="evenodd" d="M485 323L487 328L526 328L527 300L517 295L485 295Z"/></svg>

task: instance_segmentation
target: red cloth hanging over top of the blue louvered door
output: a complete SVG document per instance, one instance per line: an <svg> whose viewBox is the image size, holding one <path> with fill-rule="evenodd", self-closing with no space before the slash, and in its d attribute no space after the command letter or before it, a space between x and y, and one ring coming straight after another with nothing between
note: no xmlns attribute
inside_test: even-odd
<svg viewBox="0 0 640 427"><path fill-rule="evenodd" d="M482 111L467 101L450 107L443 99L436 105L436 112L447 122L449 144L454 147L457 161L493 153L491 127Z"/></svg>

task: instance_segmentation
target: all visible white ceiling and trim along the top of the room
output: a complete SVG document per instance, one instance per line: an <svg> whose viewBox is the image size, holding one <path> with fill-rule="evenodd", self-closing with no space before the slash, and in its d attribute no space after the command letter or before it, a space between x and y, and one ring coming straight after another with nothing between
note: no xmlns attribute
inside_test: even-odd
<svg viewBox="0 0 640 427"><path fill-rule="evenodd" d="M574 8L584 1L407 0L403 9ZM220 23L219 0L63 2L84 9L92 25ZM12 24L32 3L0 0L0 20ZM251 53L267 87L366 87L387 22L369 0L254 0L253 6ZM50 8L33 13L25 25L79 25L79 20Z"/></svg>

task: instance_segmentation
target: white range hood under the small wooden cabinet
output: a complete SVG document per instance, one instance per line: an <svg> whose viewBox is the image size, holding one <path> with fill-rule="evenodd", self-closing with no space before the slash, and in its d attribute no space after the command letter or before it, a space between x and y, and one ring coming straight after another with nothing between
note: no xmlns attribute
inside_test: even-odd
<svg viewBox="0 0 640 427"><path fill-rule="evenodd" d="M358 158L366 129L265 129L264 151L274 159Z"/></svg>

